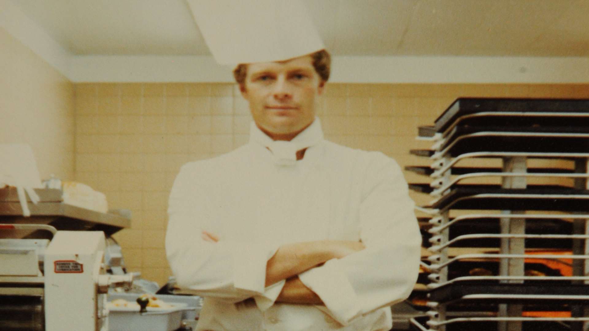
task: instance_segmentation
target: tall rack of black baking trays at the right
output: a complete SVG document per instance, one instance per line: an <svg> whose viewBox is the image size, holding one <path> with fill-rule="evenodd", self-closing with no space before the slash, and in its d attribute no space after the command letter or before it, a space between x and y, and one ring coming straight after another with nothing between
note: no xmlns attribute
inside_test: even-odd
<svg viewBox="0 0 589 331"><path fill-rule="evenodd" d="M429 183L409 186L434 200L412 328L587 330L589 100L459 98L419 136L431 166L406 169Z"/></svg>

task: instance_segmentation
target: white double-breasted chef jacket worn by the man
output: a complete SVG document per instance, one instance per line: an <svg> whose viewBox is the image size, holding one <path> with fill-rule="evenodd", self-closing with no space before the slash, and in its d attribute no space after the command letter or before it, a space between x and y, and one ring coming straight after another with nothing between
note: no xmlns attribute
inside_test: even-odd
<svg viewBox="0 0 589 331"><path fill-rule="evenodd" d="M167 257L178 285L205 298L197 330L391 329L389 306L411 293L421 247L398 164L323 140L318 119L272 144L252 123L248 144L184 165L174 182ZM306 145L302 160L277 156ZM267 260L281 244L313 240L366 249L299 274L325 306L274 303L284 280L264 288Z"/></svg>

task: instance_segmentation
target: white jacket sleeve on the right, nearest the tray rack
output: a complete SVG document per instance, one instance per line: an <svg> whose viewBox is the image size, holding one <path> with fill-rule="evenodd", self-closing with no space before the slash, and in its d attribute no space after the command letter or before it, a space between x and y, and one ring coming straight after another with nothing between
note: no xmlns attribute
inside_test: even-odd
<svg viewBox="0 0 589 331"><path fill-rule="evenodd" d="M419 272L421 234L415 203L398 164L380 153L373 156L359 210L366 249L299 274L325 303L319 308L342 325L406 299Z"/></svg>

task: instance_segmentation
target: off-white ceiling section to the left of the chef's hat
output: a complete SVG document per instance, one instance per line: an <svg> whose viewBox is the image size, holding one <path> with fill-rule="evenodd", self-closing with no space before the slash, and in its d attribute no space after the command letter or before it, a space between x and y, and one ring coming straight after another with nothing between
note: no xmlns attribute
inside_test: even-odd
<svg viewBox="0 0 589 331"><path fill-rule="evenodd" d="M14 0L79 55L210 54L183 0Z"/></svg>

